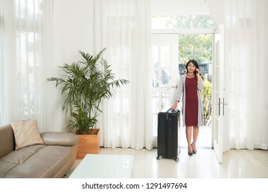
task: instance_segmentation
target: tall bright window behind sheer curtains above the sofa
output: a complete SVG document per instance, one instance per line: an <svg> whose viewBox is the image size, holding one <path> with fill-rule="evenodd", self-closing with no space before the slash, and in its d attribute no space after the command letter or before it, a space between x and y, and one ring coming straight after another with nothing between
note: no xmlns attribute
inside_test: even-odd
<svg viewBox="0 0 268 192"><path fill-rule="evenodd" d="M30 119L39 112L40 42L42 1L15 1L16 15L16 77L20 119Z"/></svg>

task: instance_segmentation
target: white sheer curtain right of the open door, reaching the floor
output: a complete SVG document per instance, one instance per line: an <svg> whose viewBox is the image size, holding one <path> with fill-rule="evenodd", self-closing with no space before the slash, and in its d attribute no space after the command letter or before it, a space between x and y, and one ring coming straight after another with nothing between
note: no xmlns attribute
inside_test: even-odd
<svg viewBox="0 0 268 192"><path fill-rule="evenodd" d="M207 0L212 16L216 4ZM229 121L224 150L267 149L268 1L221 1L225 25L225 65ZM217 20L221 21L221 20ZM217 23L218 24L218 23Z"/></svg>

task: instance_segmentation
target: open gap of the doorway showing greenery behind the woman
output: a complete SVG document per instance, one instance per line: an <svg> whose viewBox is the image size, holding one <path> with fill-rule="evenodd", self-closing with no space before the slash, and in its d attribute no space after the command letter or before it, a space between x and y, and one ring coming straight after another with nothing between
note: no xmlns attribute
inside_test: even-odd
<svg viewBox="0 0 268 192"><path fill-rule="evenodd" d="M203 118L205 125L200 128L199 148L212 149L212 46L213 34L179 34L179 74L186 73L186 63L197 60L201 74L205 78L203 97ZM185 132L185 128L182 129ZM187 147L185 134L182 134L181 145Z"/></svg>

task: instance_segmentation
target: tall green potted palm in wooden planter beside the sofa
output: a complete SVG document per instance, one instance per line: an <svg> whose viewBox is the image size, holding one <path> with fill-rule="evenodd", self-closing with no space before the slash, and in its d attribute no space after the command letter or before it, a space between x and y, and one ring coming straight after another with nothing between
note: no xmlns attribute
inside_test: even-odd
<svg viewBox="0 0 268 192"><path fill-rule="evenodd" d="M99 129L96 129L95 125L98 123L98 115L102 113L100 108L102 99L113 97L116 87L129 83L124 79L115 80L111 65L101 57L104 50L102 49L95 57L78 51L82 60L60 67L63 78L47 78L47 82L55 82L56 87L61 89L62 110L69 112L71 117L67 128L75 130L80 136L80 145L78 143L80 158L87 153L100 152L100 141L97 141L97 144L92 144L91 141L100 140ZM85 149L85 145L94 145L97 149ZM83 151L82 155L79 154L80 149Z"/></svg>

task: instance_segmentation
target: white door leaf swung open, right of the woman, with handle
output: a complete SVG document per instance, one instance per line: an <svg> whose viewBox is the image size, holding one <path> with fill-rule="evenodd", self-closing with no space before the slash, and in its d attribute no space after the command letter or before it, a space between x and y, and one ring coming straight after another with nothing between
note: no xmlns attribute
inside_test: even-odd
<svg viewBox="0 0 268 192"><path fill-rule="evenodd" d="M212 128L213 148L219 163L223 163L223 130L226 125L225 110L225 67L224 67L224 27L221 25L214 34L214 67L212 80Z"/></svg>

